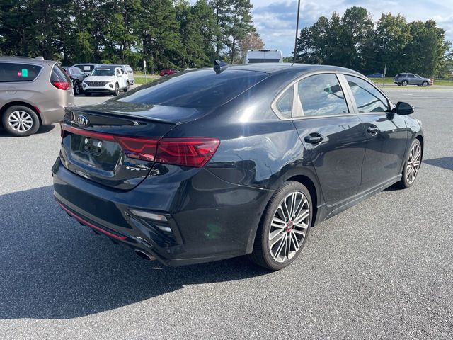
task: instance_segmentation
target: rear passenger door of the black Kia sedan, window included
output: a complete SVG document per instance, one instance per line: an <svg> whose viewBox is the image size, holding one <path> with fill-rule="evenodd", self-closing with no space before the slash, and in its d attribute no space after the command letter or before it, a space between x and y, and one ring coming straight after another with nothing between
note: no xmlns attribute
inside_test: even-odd
<svg viewBox="0 0 453 340"><path fill-rule="evenodd" d="M349 107L336 74L304 77L295 89L293 122L314 165L326 204L345 202L360 188L367 138L363 124Z"/></svg>

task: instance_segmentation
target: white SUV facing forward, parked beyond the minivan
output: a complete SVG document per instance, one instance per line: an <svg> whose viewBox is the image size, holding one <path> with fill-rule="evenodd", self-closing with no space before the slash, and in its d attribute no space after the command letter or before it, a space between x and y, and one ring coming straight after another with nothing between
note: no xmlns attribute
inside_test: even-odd
<svg viewBox="0 0 453 340"><path fill-rule="evenodd" d="M129 90L130 82L121 67L99 66L84 79L82 86L85 96L93 93L117 96L121 90Z"/></svg>

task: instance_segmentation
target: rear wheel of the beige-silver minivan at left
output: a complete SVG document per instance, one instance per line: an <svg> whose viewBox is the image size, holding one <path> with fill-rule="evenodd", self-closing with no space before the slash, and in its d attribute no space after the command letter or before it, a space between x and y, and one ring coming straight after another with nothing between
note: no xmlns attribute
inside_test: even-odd
<svg viewBox="0 0 453 340"><path fill-rule="evenodd" d="M11 106L1 116L4 128L13 136L30 136L40 128L38 115L26 106Z"/></svg>

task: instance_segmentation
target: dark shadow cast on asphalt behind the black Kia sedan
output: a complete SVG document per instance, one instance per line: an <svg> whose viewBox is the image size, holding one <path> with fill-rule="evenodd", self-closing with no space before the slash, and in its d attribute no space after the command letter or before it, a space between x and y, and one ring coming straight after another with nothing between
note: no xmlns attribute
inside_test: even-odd
<svg viewBox="0 0 453 340"><path fill-rule="evenodd" d="M0 319L83 317L268 273L243 258L175 268L140 259L64 214L52 186L0 196L0 259Z"/></svg>

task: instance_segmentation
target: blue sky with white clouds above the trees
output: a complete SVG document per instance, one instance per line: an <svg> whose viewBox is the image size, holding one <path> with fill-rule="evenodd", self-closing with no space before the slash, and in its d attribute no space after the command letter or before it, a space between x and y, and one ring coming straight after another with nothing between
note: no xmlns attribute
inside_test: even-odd
<svg viewBox="0 0 453 340"><path fill-rule="evenodd" d="M253 21L265 47L291 54L294 48L297 1L251 0ZM453 41L453 0L302 0L299 28L314 23L319 16L330 18L336 11L343 15L352 6L367 8L377 21L382 12L402 13L408 21L435 19L446 30L447 39Z"/></svg>

